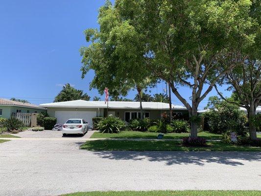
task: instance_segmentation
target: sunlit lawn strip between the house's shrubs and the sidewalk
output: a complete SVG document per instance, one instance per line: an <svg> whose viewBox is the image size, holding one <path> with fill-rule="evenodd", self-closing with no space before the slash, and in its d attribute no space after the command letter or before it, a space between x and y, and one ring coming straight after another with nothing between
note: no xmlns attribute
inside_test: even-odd
<svg viewBox="0 0 261 196"><path fill-rule="evenodd" d="M100 133L95 132L91 138L147 138L147 139L156 139L159 133L154 132L140 132L140 131L122 131L120 133ZM190 133L165 133L164 139L182 139L188 137ZM200 132L198 133L199 137L206 138L208 140L219 139L220 134Z"/></svg>

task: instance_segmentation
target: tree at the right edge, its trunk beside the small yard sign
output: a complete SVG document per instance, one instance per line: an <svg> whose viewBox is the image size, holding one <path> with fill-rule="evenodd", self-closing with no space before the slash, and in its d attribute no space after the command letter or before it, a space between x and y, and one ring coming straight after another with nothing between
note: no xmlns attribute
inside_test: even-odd
<svg viewBox="0 0 261 196"><path fill-rule="evenodd" d="M252 0L250 16L255 19L257 23L257 35L254 39L254 44L247 47L238 56L239 59L244 59L243 56L247 55L244 61L241 61L232 72L226 73L221 80L220 84L225 83L229 85L229 91L233 91L234 97L237 99L231 100L224 98L215 85L218 95L229 103L234 103L239 107L247 110L249 122L249 135L251 140L257 140L257 132L253 118L256 115L256 109L261 104L261 2L260 0ZM222 62L222 61L221 61ZM230 61L223 61L223 64L230 64Z"/></svg>

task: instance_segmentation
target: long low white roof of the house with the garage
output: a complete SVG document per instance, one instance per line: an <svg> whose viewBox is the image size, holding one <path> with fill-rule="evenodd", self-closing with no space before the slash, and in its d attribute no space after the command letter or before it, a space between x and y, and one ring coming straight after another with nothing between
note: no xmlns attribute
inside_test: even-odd
<svg viewBox="0 0 261 196"><path fill-rule="evenodd" d="M42 107L67 107L67 108L107 108L107 103L104 101L85 101L85 100L73 100L55 103L40 104ZM139 109L140 102L134 101L109 101L110 109ZM143 109L150 110L168 110L168 103L161 102L142 102ZM186 107L181 105L173 105L173 110L187 110Z"/></svg>

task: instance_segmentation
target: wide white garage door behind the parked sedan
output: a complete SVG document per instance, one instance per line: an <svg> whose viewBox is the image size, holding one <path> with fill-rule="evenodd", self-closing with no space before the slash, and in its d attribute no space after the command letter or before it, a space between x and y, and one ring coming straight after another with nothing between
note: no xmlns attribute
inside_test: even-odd
<svg viewBox="0 0 261 196"><path fill-rule="evenodd" d="M68 119L84 119L89 124L93 124L93 118L96 117L95 111L55 111L57 123L64 124Z"/></svg>

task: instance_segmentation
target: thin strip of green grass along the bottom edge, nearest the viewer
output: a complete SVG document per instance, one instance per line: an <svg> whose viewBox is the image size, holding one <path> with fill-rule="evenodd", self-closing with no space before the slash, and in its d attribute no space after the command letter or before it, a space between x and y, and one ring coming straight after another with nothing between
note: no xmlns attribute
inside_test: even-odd
<svg viewBox="0 0 261 196"><path fill-rule="evenodd" d="M258 196L261 191L108 191L82 192L63 196Z"/></svg>

